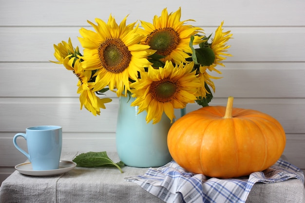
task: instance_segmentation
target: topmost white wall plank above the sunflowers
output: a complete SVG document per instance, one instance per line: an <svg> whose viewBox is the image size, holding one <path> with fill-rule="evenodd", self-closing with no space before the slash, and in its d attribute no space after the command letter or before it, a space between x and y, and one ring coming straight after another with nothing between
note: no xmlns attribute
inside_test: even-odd
<svg viewBox="0 0 305 203"><path fill-rule="evenodd" d="M131 21L152 21L163 8L169 12L182 8L181 19L195 19L195 25L215 25L226 20L230 26L304 26L303 0L14 0L1 3L0 26L78 26L86 19L102 18L110 13L121 20L129 15Z"/></svg>

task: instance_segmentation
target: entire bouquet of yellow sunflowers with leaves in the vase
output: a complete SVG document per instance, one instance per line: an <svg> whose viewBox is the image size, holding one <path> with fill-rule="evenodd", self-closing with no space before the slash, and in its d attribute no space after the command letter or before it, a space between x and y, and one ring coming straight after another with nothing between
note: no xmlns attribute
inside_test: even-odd
<svg viewBox="0 0 305 203"><path fill-rule="evenodd" d="M84 106L94 115L105 109L110 98L99 94L110 90L120 96L132 96L132 106L139 113L147 111L146 121L160 121L163 112L175 118L174 109L188 103L208 106L215 92L211 79L220 77L207 73L231 56L226 45L232 34L223 32L223 22L214 37L206 36L200 27L180 21L181 8L168 14L165 8L153 23L141 21L126 25L127 16L117 24L110 15L108 22L96 18L95 31L80 29L78 37L83 54L73 47L71 39L54 44L55 57L78 77L80 109ZM197 47L194 47L197 45Z"/></svg>

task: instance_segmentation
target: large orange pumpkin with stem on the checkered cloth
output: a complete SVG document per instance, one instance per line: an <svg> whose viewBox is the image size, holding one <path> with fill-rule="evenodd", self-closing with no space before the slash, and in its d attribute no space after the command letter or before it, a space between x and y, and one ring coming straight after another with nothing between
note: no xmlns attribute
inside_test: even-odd
<svg viewBox="0 0 305 203"><path fill-rule="evenodd" d="M262 171L281 157L286 135L281 124L260 111L203 107L175 121L168 133L172 158L193 173L233 178Z"/></svg>

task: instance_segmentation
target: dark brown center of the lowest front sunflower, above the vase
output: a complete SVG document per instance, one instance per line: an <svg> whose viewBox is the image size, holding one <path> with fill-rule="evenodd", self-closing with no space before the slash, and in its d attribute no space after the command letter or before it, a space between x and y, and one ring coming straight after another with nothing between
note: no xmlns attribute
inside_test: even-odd
<svg viewBox="0 0 305 203"><path fill-rule="evenodd" d="M160 80L151 83L152 97L158 102L171 102L174 95L179 92L177 81Z"/></svg>

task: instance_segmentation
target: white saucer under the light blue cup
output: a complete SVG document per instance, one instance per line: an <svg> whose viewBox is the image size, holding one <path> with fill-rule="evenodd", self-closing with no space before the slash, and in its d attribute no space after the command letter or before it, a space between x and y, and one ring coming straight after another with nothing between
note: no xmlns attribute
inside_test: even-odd
<svg viewBox="0 0 305 203"><path fill-rule="evenodd" d="M33 170L32 164L30 162L22 163L15 166L15 169L19 173L30 176L55 176L65 172L68 172L75 168L76 163L72 161L59 161L59 168L54 170Z"/></svg>

